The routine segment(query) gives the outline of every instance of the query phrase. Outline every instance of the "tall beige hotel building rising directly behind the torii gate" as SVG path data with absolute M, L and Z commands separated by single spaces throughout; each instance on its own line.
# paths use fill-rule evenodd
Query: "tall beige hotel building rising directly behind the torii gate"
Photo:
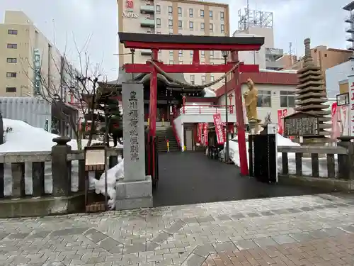
M 229 36 L 229 6 L 195 0 L 118 1 L 118 28 L 120 32 L 130 33 Z M 120 66 L 132 62 L 130 50 L 122 44 L 119 44 L 119 54 Z M 150 58 L 151 50 L 135 51 L 135 62 Z M 190 64 L 192 59 L 193 51 L 159 51 L 159 60 L 166 64 Z M 222 64 L 224 59 L 220 51 L 200 51 L 200 61 Z M 204 84 L 221 75 L 186 73 L 185 80 Z

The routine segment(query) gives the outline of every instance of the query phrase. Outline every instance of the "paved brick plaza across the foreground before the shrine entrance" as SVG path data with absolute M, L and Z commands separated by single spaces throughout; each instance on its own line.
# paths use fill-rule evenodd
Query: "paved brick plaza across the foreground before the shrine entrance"
M 354 198 L 0 220 L 0 265 L 354 265 Z

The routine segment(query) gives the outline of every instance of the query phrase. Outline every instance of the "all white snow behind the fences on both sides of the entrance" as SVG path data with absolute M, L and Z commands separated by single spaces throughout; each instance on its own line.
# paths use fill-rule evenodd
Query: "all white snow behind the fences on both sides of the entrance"
M 34 128 L 23 121 L 4 119 L 4 129 L 12 128 L 12 131 L 6 133 L 6 143 L 0 145 L 0 154 L 14 153 L 14 152 L 33 152 L 33 151 L 50 151 L 52 146 L 55 145 L 52 139 L 57 135 L 49 133 L 42 128 Z M 246 135 L 246 138 L 248 136 Z M 298 146 L 299 144 L 293 143 L 291 140 L 277 135 L 278 145 L 281 146 Z M 95 143 L 95 141 L 93 141 Z M 72 150 L 77 150 L 76 140 L 71 140 L 69 145 L 72 146 Z M 83 146 L 87 144 L 87 140 L 83 140 Z M 248 148 L 248 143 L 246 144 Z M 120 145 L 122 148 L 122 145 Z M 235 165 L 239 166 L 239 147 L 237 143 L 237 137 L 229 142 L 230 158 Z M 248 158 L 247 158 L 248 160 Z M 289 172 L 295 173 L 295 154 L 288 154 L 289 160 Z M 47 194 L 52 193 L 52 165 L 51 162 L 45 162 L 45 192 Z M 336 164 L 336 170 L 338 165 Z M 278 172 L 282 171 L 282 157 L 281 153 L 278 153 Z M 302 171 L 305 175 L 312 174 L 311 158 L 302 159 Z M 72 162 L 72 192 L 77 192 L 79 187 L 79 170 L 78 162 Z M 102 174 L 100 179 L 97 180 L 93 176 L 93 172 L 89 174 L 90 189 L 95 189 L 97 194 L 105 194 L 104 180 L 105 175 Z M 118 158 L 118 165 L 108 170 L 108 197 L 110 200 L 108 204 L 111 209 L 114 209 L 115 203 L 115 184 L 116 181 L 122 179 L 124 174 L 123 160 Z M 326 158 L 319 159 L 319 174 L 321 177 L 327 176 Z M 32 164 L 25 164 L 25 193 L 32 194 Z M 11 165 L 4 166 L 4 194 L 11 195 L 12 192 L 12 178 L 11 178 Z

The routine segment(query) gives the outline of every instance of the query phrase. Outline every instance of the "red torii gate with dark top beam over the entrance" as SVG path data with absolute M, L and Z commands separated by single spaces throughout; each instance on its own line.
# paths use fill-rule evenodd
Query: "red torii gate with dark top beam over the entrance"
M 239 143 L 240 170 L 242 175 L 249 174 L 247 165 L 246 135 L 244 129 L 244 113 L 242 108 L 240 72 L 259 72 L 258 65 L 239 63 L 238 51 L 260 50 L 264 44 L 263 37 L 216 37 L 195 35 L 156 35 L 145 33 L 118 33 L 120 43 L 125 48 L 152 50 L 152 62 L 146 64 L 125 64 L 126 73 L 151 73 L 149 102 L 149 135 L 156 135 L 156 104 L 157 104 L 157 67 L 166 73 L 227 73 L 234 69 L 235 108 Z M 193 65 L 164 65 L 158 61 L 159 50 L 193 50 Z M 200 65 L 200 50 L 229 51 L 232 62 L 227 65 Z M 235 67 L 236 64 L 239 64 Z M 149 162 L 155 160 L 152 151 L 148 153 Z M 150 165 L 150 163 L 149 163 Z M 153 163 L 153 165 L 155 165 Z M 154 170 L 149 171 L 152 174 Z

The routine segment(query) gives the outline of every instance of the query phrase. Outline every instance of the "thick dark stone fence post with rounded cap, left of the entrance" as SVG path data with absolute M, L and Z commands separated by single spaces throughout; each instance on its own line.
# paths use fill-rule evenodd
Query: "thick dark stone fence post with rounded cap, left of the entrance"
M 67 155 L 72 147 L 67 145 L 68 137 L 53 138 L 57 145 L 52 147 L 52 196 L 69 196 L 72 188 L 71 163 L 67 161 Z

